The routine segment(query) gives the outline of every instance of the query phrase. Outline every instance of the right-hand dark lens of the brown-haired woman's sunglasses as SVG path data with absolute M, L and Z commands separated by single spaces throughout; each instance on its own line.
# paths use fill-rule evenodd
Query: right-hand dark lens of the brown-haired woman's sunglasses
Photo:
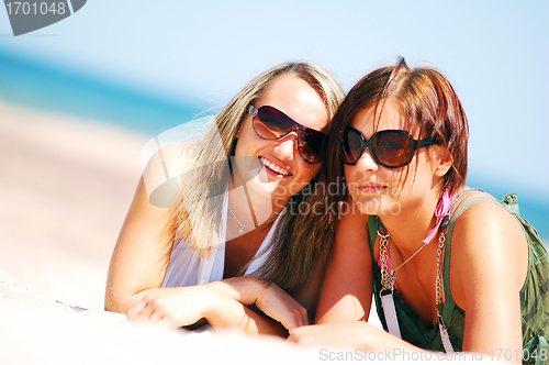
M 380 164 L 404 166 L 412 157 L 412 136 L 404 131 L 381 131 L 373 135 L 372 150 Z

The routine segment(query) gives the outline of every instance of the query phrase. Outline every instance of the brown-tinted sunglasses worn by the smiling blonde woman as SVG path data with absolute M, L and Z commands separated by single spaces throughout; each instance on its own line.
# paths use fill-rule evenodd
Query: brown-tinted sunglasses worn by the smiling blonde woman
M 326 135 L 322 132 L 303 126 L 277 108 L 262 106 L 256 109 L 249 106 L 251 124 L 256 134 L 264 140 L 280 140 L 295 132 L 298 134 L 296 148 L 301 157 L 309 164 L 322 161 L 321 150 Z

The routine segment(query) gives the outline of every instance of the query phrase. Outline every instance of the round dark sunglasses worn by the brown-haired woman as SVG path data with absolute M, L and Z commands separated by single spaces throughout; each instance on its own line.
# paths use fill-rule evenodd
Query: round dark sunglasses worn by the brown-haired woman
M 437 143 L 436 139 L 416 141 L 408 132 L 397 130 L 379 131 L 366 141 L 362 133 L 348 126 L 343 139 L 343 162 L 356 165 L 368 147 L 379 165 L 396 168 L 410 164 L 416 150 Z

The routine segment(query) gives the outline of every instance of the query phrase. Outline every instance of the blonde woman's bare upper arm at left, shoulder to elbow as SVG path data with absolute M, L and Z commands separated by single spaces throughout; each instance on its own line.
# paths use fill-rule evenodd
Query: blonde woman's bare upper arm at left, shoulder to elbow
M 168 170 L 176 176 L 192 168 L 192 153 L 187 145 L 172 145 L 153 155 L 145 167 L 111 257 L 105 310 L 125 313 L 150 289 L 161 286 L 172 246 L 166 234 L 170 209 L 150 203 L 149 196 L 167 181 Z M 169 191 L 165 195 L 171 196 Z

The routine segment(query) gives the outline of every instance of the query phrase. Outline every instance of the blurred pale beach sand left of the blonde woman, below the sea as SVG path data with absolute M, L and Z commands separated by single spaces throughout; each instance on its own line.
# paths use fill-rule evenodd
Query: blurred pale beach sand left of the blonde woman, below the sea
M 147 140 L 0 103 L 0 281 L 102 308 Z

